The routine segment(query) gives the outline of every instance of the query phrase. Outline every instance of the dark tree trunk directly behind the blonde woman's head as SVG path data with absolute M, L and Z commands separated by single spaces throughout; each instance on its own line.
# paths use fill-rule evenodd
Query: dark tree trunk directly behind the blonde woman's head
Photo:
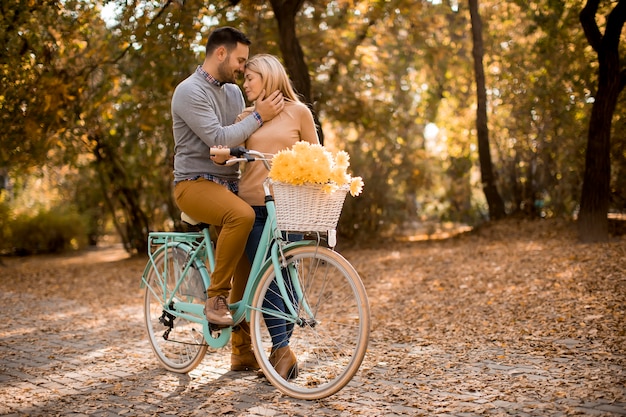
M 304 60 L 300 41 L 296 36 L 296 15 L 304 4 L 304 0 L 271 0 L 270 3 L 278 23 L 278 45 L 285 67 L 294 88 L 302 95 L 303 101 L 311 109 L 320 142 L 324 143 L 322 125 L 313 106 L 309 68 Z

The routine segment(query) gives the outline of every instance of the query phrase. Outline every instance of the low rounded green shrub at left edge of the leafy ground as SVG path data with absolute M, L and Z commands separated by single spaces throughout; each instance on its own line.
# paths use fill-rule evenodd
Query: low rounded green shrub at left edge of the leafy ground
M 9 226 L 16 254 L 60 253 L 87 242 L 85 220 L 75 210 L 53 207 L 34 216 L 22 214 Z

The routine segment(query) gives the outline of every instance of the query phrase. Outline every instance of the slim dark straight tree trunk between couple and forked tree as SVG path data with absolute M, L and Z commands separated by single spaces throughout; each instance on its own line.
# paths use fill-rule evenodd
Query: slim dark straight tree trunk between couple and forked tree
M 480 160 L 480 175 L 483 183 L 483 192 L 489 206 L 489 218 L 497 220 L 506 213 L 504 201 L 496 187 L 493 174 L 493 164 L 489 151 L 489 128 L 487 127 L 487 93 L 485 90 L 485 69 L 483 67 L 483 35 L 482 20 L 478 13 L 478 0 L 469 0 L 470 16 L 472 21 L 472 56 L 474 57 L 474 71 L 476 76 L 476 131 L 478 134 L 478 156 Z

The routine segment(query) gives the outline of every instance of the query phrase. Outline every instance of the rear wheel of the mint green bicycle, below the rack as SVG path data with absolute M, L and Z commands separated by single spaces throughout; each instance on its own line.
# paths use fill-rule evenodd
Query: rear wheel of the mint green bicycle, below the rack
M 144 320 L 157 359 L 172 372 L 186 373 L 200 364 L 207 350 L 202 325 L 178 317 L 166 305 L 185 267 L 187 252 L 167 246 L 155 256 L 147 274 Z M 203 303 L 206 291 L 200 273 L 190 268 L 174 301 Z

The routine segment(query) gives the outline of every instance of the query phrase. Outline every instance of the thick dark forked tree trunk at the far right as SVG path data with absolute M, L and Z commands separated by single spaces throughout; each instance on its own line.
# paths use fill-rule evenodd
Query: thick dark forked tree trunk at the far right
M 604 36 L 596 22 L 599 0 L 588 0 L 580 22 L 589 44 L 598 54 L 598 90 L 591 108 L 580 214 L 579 239 L 605 242 L 609 238 L 611 193 L 611 124 L 617 98 L 626 85 L 626 71 L 620 69 L 619 40 L 626 20 L 626 0 L 609 13 Z

